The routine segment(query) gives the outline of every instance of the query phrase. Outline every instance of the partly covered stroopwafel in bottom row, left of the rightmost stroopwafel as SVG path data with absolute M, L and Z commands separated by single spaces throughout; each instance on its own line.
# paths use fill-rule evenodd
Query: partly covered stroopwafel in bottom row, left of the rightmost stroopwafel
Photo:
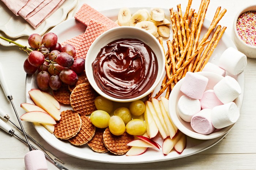
M 106 148 L 103 142 L 103 132 L 105 129 L 96 128 L 95 135 L 93 138 L 87 143 L 88 146 L 95 152 L 98 153 L 107 153 L 109 150 Z

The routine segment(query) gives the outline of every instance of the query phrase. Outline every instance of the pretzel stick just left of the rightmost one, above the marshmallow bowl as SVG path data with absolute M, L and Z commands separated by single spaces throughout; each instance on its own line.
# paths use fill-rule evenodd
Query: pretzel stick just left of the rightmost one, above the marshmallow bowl
M 206 58 L 206 55 L 207 55 L 208 51 L 211 49 L 211 46 L 214 43 L 215 39 L 217 38 L 220 30 L 221 30 L 221 26 L 218 25 L 216 30 L 214 31 L 214 34 L 212 35 L 210 43 L 208 44 L 208 46 L 204 50 L 204 53 L 203 53 L 202 57 L 200 59 L 196 58 L 197 61 L 195 61 L 194 65 L 193 65 L 193 69 L 192 69 L 193 72 L 198 72 L 199 71 L 204 59 Z

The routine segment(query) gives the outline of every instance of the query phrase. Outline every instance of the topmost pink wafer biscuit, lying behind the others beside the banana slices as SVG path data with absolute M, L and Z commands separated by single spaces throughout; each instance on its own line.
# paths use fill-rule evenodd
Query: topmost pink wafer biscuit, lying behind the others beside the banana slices
M 118 24 L 116 24 L 114 21 L 87 4 L 82 5 L 82 7 L 76 13 L 75 19 L 85 25 L 88 25 L 91 19 L 97 20 L 98 22 L 106 24 L 107 30 L 118 27 Z

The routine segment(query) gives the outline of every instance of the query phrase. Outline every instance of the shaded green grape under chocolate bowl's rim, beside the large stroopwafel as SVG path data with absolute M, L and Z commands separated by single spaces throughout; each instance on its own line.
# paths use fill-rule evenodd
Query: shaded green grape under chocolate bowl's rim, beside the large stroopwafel
M 98 110 L 102 110 L 108 113 L 111 113 L 113 110 L 113 102 L 108 100 L 102 96 L 98 96 L 95 98 L 94 104 Z

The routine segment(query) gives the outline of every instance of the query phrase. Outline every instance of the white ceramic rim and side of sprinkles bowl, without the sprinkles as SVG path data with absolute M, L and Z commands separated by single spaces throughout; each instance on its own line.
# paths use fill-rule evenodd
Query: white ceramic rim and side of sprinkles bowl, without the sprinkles
M 237 12 L 233 22 L 232 39 L 238 51 L 241 51 L 249 58 L 256 58 L 256 46 L 251 46 L 245 43 L 237 33 L 237 27 L 236 27 L 237 19 L 242 13 L 248 12 L 248 11 L 256 11 L 256 4 L 246 6 Z

